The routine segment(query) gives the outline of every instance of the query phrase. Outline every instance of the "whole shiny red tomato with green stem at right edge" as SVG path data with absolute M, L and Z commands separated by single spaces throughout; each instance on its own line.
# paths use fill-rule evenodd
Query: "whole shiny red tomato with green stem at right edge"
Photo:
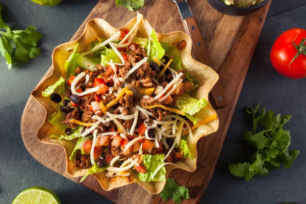
M 306 51 L 301 53 L 302 50 L 306 50 L 305 38 L 306 30 L 295 28 L 284 32 L 275 40 L 270 60 L 272 66 L 285 77 L 306 77 Z

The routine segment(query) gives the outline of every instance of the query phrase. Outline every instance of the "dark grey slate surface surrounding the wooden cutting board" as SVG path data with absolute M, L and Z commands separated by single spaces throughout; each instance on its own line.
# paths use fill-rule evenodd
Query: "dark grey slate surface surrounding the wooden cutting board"
M 42 54 L 36 60 L 14 64 L 8 70 L 5 59 L 0 57 L 0 203 L 12 202 L 19 192 L 32 186 L 52 189 L 62 203 L 111 203 L 38 163 L 25 149 L 20 136 L 22 110 L 52 64 L 54 47 L 72 37 L 96 2 L 64 0 L 59 6 L 43 7 L 30 0 L 0 1 L 4 6 L 3 18 L 12 28 L 25 29 L 33 24 L 43 33 L 39 44 Z M 305 19 L 304 0 L 272 1 L 211 184 L 201 203 L 306 203 L 305 79 L 282 77 L 269 61 L 276 37 L 294 27 L 305 29 Z M 246 183 L 228 173 L 227 165 L 243 162 L 251 155 L 252 150 L 241 139 L 243 131 L 251 125 L 244 110 L 259 102 L 277 113 L 293 115 L 285 127 L 293 137 L 290 148 L 300 149 L 301 153 L 290 170 L 282 167 L 269 176 L 256 176 L 255 182 Z

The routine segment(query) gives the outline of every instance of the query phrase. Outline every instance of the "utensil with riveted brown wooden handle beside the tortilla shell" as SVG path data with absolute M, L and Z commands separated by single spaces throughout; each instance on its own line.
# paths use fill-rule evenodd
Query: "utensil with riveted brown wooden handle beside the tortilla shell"
M 202 64 L 205 64 L 217 71 L 205 46 L 204 40 L 195 21 L 195 18 L 190 10 L 187 0 L 168 1 L 174 2 L 177 8 L 179 8 L 186 33 L 190 36 L 192 40 L 192 47 L 194 49 L 197 60 Z M 216 108 L 222 108 L 224 106 L 227 106 L 227 100 L 225 98 L 220 81 L 215 84 L 214 88 L 211 91 L 211 95 Z

